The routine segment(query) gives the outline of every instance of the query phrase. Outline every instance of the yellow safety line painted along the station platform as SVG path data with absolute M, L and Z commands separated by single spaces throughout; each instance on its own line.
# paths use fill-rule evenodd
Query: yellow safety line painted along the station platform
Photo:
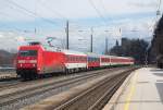
M 131 97 L 134 95 L 134 91 L 135 91 L 135 85 L 136 85 L 137 76 L 138 76 L 138 72 L 136 72 L 136 74 L 134 76 L 134 81 L 131 83 L 130 91 L 129 91 L 129 94 L 128 94 L 128 96 L 126 98 L 126 101 L 125 101 L 126 103 L 124 106 L 124 110 L 128 110 L 129 109 L 130 99 L 131 99 Z

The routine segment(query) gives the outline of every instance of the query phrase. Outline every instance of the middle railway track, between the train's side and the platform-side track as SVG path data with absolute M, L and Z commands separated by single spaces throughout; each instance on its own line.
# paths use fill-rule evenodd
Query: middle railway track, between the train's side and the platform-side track
M 51 89 L 58 89 L 61 87 L 66 87 L 68 85 L 79 84 L 79 82 L 85 83 L 88 80 L 104 75 L 105 73 L 108 74 L 108 71 L 109 70 L 90 72 L 91 74 L 89 73 L 89 74 L 85 74 L 85 75 L 76 75 L 74 77 L 64 78 L 64 80 L 57 81 L 57 82 L 54 81 L 51 83 L 46 83 L 46 84 L 43 83 L 43 85 L 33 86 L 33 87 L 29 87 L 26 89 L 20 89 L 20 90 L 17 89 L 16 91 L 3 94 L 3 95 L 0 93 L 0 109 L 4 106 L 17 102 L 18 100 L 25 100 L 25 99 L 34 97 L 36 95 L 45 94 L 46 91 L 51 90 Z M 111 72 L 117 71 L 117 69 L 114 69 L 114 70 L 112 69 L 110 71 Z M 33 83 L 36 83 L 36 82 L 33 82 Z M 22 84 L 22 86 L 24 84 Z

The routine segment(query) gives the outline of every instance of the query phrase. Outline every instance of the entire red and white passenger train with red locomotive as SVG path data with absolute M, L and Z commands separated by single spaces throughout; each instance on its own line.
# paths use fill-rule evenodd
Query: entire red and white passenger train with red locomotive
M 104 56 L 45 47 L 39 42 L 21 46 L 16 57 L 16 73 L 23 80 L 46 74 L 73 73 L 115 65 L 131 65 L 130 57 Z

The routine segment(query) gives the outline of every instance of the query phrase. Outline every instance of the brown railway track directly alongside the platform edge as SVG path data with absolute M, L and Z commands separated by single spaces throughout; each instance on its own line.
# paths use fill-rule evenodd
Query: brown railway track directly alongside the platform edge
M 103 80 L 54 110 L 101 110 L 131 71 Z

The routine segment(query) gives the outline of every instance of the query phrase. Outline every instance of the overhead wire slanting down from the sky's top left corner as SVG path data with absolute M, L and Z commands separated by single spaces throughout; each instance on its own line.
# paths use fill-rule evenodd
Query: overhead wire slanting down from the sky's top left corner
M 13 5 L 15 5 L 15 7 L 17 7 L 17 8 L 22 9 L 22 10 L 24 10 L 25 12 L 30 13 L 30 14 L 34 15 L 34 16 L 40 17 L 41 20 L 43 20 L 43 21 L 47 22 L 47 23 L 57 24 L 57 23 L 53 22 L 53 21 L 50 21 L 50 20 L 48 20 L 48 19 L 42 17 L 42 16 L 39 15 L 38 13 L 35 13 L 35 12 L 33 12 L 33 11 L 30 11 L 30 10 L 25 9 L 24 7 L 17 4 L 16 2 L 14 2 L 14 1 L 12 1 L 12 0 L 7 0 L 7 1 L 10 2 L 10 3 L 12 3 Z

